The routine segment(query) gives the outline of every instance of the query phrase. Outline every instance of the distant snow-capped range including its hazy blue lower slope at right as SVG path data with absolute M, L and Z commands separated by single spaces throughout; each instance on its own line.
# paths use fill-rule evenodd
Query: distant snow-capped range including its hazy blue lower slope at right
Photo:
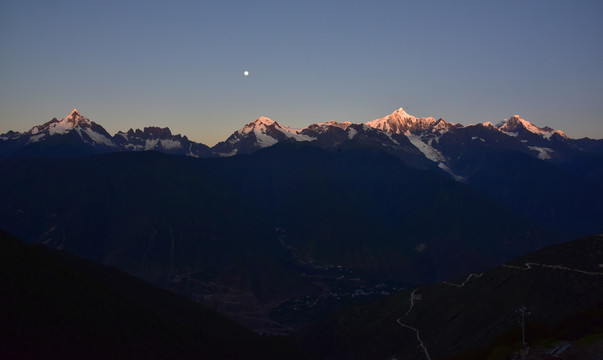
M 108 152 L 155 150 L 197 158 L 252 154 L 277 143 L 300 143 L 326 150 L 375 148 L 407 165 L 438 172 L 543 227 L 569 238 L 598 231 L 589 225 L 599 209 L 603 183 L 603 140 L 570 139 L 562 131 L 538 127 L 518 115 L 498 124 L 463 126 L 433 117 L 417 118 L 404 109 L 368 121 L 318 123 L 292 129 L 260 117 L 209 148 L 168 128 L 118 132 L 82 116 L 77 109 L 18 133 L 0 135 L 0 158 L 82 157 Z M 588 190 L 588 191 L 586 191 Z M 554 193 L 553 193 L 554 192 Z M 587 195 L 590 193 L 591 195 Z M 532 201 L 537 197 L 537 201 Z M 546 207 L 554 211 L 541 211 Z

